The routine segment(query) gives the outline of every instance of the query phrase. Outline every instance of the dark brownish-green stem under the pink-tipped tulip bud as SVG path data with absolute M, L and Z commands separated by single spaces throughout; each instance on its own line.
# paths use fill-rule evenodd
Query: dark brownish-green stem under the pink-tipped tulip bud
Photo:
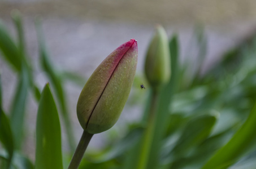
M 93 134 L 89 134 L 86 131 L 83 132 L 83 135 L 81 136 L 79 144 L 76 147 L 76 151 L 73 154 L 73 157 L 71 159 L 70 166 L 68 166 L 68 169 L 77 169 L 79 167 L 81 159 L 84 156 L 84 152 L 90 142 L 90 139 L 92 139 L 92 137 L 93 137 Z

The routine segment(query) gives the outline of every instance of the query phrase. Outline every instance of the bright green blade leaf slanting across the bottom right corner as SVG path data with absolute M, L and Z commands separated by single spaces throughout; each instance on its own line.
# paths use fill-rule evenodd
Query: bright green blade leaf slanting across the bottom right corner
M 227 168 L 235 163 L 256 141 L 256 104 L 248 119 L 229 142 L 216 152 L 202 168 Z

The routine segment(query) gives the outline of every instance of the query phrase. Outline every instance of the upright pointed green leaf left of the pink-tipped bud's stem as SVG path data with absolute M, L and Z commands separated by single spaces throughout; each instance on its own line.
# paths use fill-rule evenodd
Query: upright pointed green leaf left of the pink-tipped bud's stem
M 37 112 L 36 168 L 63 168 L 59 117 L 48 83 Z

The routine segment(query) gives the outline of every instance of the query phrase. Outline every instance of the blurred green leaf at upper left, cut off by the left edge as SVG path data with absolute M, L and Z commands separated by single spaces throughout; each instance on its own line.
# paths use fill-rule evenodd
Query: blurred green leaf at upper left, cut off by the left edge
M 21 70 L 21 57 L 19 50 L 15 46 L 14 41 L 8 34 L 5 26 L 0 20 L 0 50 L 3 53 L 3 57 L 10 63 L 16 70 Z

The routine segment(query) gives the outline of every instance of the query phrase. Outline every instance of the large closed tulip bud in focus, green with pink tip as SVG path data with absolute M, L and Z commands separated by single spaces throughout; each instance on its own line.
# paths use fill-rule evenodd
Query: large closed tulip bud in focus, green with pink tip
M 77 102 L 77 117 L 89 134 L 109 130 L 124 108 L 131 91 L 138 59 L 137 41 L 114 50 L 94 70 Z

